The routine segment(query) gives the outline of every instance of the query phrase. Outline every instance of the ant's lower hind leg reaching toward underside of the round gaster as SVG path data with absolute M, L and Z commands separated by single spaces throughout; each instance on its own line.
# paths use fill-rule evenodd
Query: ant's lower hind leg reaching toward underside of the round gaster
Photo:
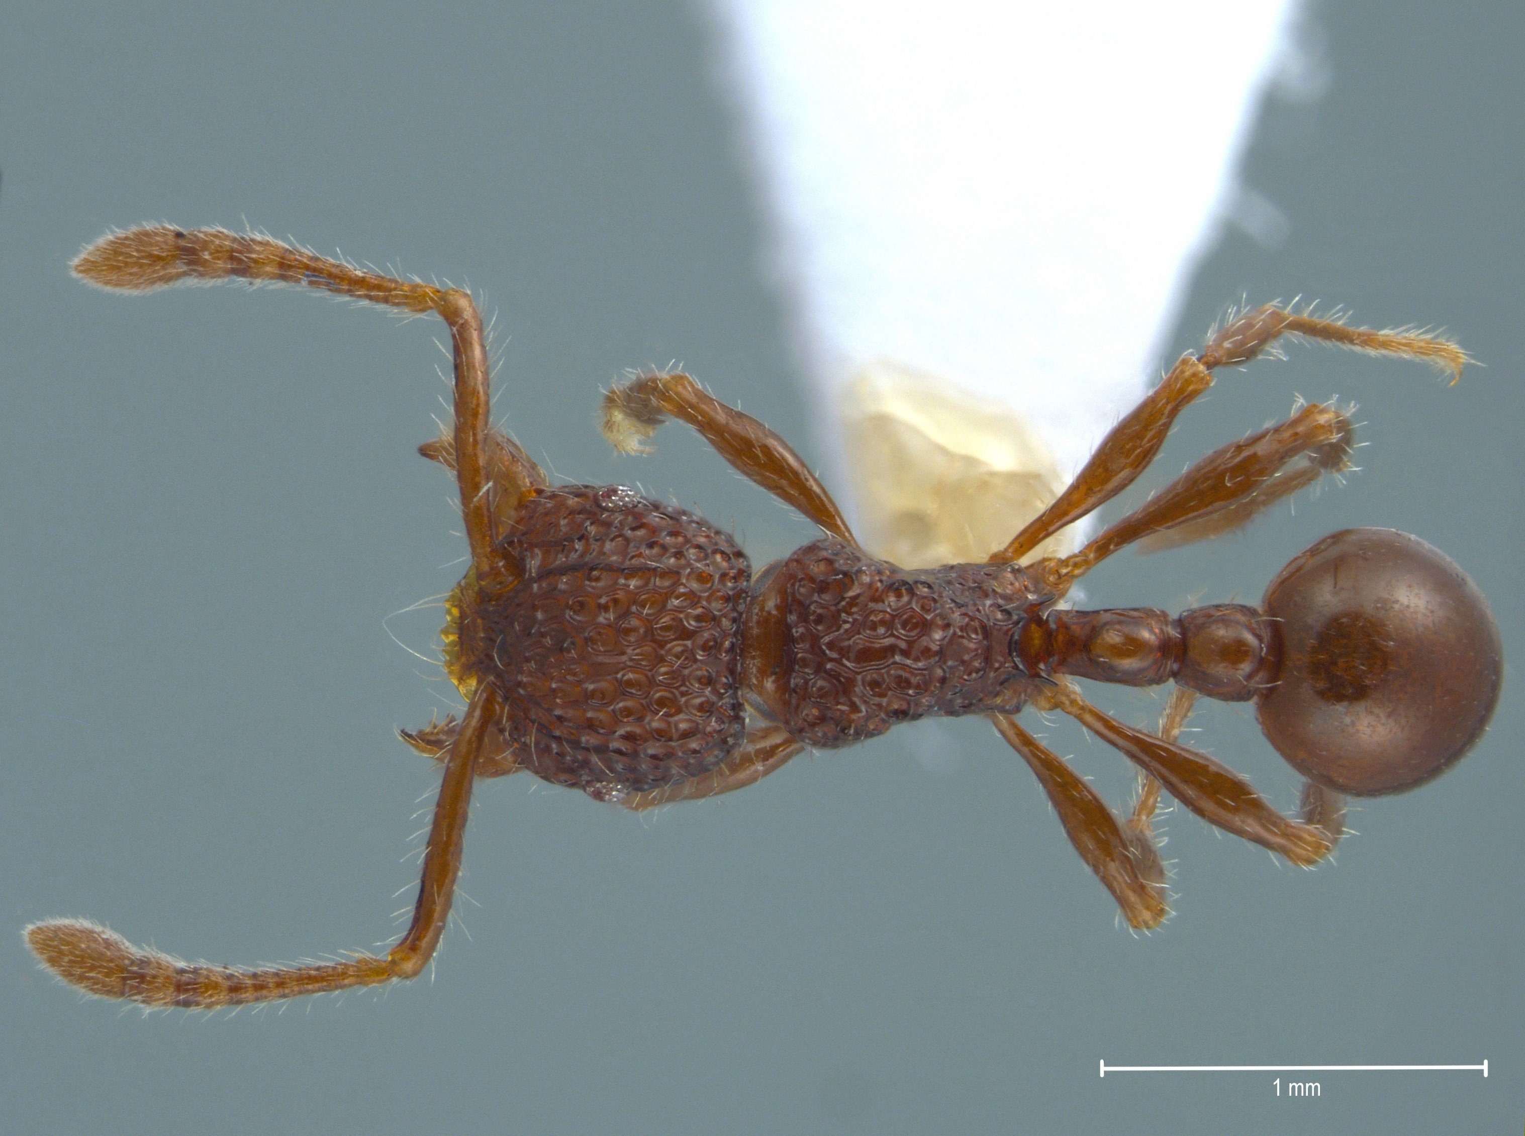
M 1308 868 L 1334 846 L 1318 823 L 1283 816 L 1228 765 L 1206 753 L 1124 726 L 1061 682 L 1034 700 L 1037 709 L 1060 709 L 1156 778 L 1176 801 L 1208 823 L 1254 840 L 1292 863 Z

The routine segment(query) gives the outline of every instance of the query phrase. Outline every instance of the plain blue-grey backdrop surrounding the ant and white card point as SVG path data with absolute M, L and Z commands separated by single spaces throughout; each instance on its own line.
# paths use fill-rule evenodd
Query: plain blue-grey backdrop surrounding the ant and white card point
M 1029 773 L 971 721 L 644 819 L 483 784 L 470 936 L 380 996 L 145 1019 L 34 967 L 17 932 L 47 915 L 223 962 L 384 938 L 433 784 L 392 729 L 453 704 L 389 634 L 427 654 L 438 608 L 387 619 L 461 570 L 450 482 L 412 454 L 445 390 L 439 329 L 294 291 L 107 296 L 64 267 L 107 226 L 247 220 L 470 282 L 500 316 L 499 413 L 555 474 L 639 479 L 758 561 L 810 537 L 683 432 L 637 462 L 593 430 L 601 384 L 679 358 L 820 457 L 692 12 L 430 8 L 5 14 L 0 1128 L 1516 1131 L 1508 685 L 1476 753 L 1354 814 L 1336 866 L 1276 866 L 1177 813 L 1179 913 L 1150 938 L 1115 926 Z M 1362 473 L 1244 538 L 1119 557 L 1089 592 L 1252 601 L 1325 532 L 1386 525 L 1461 561 L 1517 650 L 1525 18 L 1331 3 L 1319 24 L 1327 96 L 1267 104 L 1247 163 L 1290 238 L 1229 233 L 1167 357 L 1228 300 L 1301 293 L 1446 323 L 1487 367 L 1447 389 L 1307 348 L 1229 374 L 1162 470 L 1301 392 L 1360 404 Z M 1196 724 L 1293 801 L 1246 712 Z M 1118 755 L 1052 733 L 1125 796 Z M 949 741 L 952 772 L 917 761 Z M 1289 1101 L 1269 1073 L 1098 1080 L 1101 1058 L 1493 1073 L 1324 1073 L 1318 1101 Z

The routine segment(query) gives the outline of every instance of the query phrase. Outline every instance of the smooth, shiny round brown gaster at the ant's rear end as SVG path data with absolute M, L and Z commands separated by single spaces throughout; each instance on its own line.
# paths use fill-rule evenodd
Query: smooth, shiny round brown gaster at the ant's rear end
M 1401 793 L 1444 773 L 1488 724 L 1499 628 L 1472 579 L 1418 537 L 1325 537 L 1276 575 L 1264 608 L 1283 660 L 1260 727 L 1310 781 Z

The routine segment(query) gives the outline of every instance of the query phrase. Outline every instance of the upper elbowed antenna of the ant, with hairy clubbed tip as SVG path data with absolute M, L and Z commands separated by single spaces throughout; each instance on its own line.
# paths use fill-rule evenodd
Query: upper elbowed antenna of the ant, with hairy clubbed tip
M 468 293 L 361 271 L 268 236 L 162 224 L 111 233 L 85 249 L 75 259 L 73 268 L 92 284 L 122 291 L 151 291 L 191 281 L 267 281 L 300 284 L 419 314 L 436 313 L 450 328 L 454 355 L 453 441 L 454 451 L 461 454 L 456 480 L 461 485 L 471 563 L 483 576 L 494 569 L 493 483 L 486 454 L 486 343 L 482 337 L 482 317 Z

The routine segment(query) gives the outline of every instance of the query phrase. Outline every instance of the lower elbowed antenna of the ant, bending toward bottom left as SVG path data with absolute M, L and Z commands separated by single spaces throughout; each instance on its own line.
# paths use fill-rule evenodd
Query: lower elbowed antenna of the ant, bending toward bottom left
M 90 994 L 131 999 L 146 1006 L 215 1009 L 410 979 L 429 962 L 445 932 L 461 871 L 476 758 L 490 723 L 500 712 L 497 695 L 488 686 L 477 692 L 467 709 L 445 759 L 413 923 L 384 959 L 355 955 L 348 962 L 259 970 L 192 965 L 156 950 L 134 947 L 120 935 L 87 919 L 34 923 L 26 929 L 26 941 L 44 965 L 66 982 Z

